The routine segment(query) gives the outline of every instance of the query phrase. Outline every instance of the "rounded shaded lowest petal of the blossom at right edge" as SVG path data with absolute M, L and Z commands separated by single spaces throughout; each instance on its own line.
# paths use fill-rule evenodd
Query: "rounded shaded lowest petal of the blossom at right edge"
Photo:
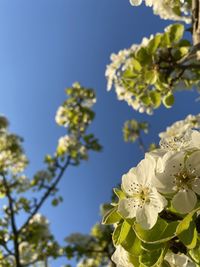
M 190 212 L 196 205 L 196 194 L 188 189 L 179 191 L 172 199 L 173 207 L 180 213 Z

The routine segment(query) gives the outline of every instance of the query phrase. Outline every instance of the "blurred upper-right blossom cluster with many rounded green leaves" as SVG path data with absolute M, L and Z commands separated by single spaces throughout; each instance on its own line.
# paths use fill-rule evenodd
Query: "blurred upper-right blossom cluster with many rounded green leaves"
M 107 89 L 114 86 L 118 99 L 141 113 L 152 114 L 161 103 L 170 108 L 174 91 L 199 82 L 197 71 L 180 63 L 191 49 L 190 42 L 182 39 L 183 33 L 182 24 L 170 25 L 164 33 L 112 54 L 105 72 Z

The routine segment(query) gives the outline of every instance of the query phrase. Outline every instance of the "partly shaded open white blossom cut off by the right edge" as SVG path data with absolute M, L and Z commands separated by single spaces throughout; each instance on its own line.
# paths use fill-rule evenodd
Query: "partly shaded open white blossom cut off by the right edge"
M 200 195 L 200 151 L 168 152 L 157 161 L 154 185 L 159 192 L 173 194 L 172 205 L 179 213 L 190 212 Z M 159 173 L 160 172 L 160 173 Z

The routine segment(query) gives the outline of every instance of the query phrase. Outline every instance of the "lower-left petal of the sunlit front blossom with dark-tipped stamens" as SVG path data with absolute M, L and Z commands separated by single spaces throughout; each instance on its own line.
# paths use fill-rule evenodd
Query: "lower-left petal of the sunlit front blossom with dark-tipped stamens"
M 134 218 L 138 208 L 138 200 L 133 198 L 121 199 L 119 201 L 118 211 L 125 218 Z

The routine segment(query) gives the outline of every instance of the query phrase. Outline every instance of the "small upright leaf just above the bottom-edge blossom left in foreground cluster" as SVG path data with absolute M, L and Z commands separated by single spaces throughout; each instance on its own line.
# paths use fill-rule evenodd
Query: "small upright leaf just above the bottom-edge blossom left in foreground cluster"
M 127 237 L 131 225 L 124 221 L 122 224 L 119 224 L 113 232 L 113 244 L 115 246 L 120 245 Z

